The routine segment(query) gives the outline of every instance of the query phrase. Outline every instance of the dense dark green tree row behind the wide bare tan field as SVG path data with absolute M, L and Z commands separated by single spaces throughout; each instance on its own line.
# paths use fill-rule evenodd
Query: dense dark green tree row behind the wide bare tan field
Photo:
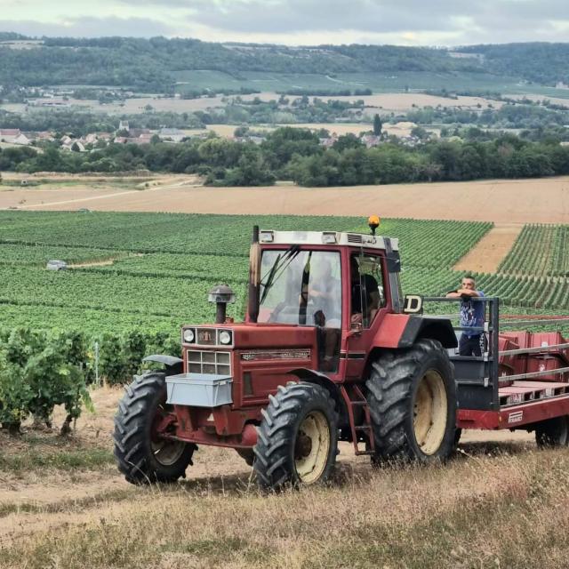
M 325 148 L 308 129 L 284 127 L 260 145 L 211 137 L 180 144 L 111 144 L 78 153 L 48 145 L 5 148 L 0 170 L 20 172 L 188 172 L 212 185 L 255 186 L 293 180 L 304 186 L 342 186 L 433 180 L 528 178 L 569 173 L 569 148 L 501 135 L 494 140 L 427 140 L 409 148 L 397 140 L 365 148 L 341 136 Z

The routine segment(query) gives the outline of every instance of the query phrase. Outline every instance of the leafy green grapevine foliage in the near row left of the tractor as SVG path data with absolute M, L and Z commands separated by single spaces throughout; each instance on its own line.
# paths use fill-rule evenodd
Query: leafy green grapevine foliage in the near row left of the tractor
M 75 330 L 0 330 L 2 425 L 17 432 L 29 416 L 51 424 L 54 407 L 63 405 L 68 429 L 82 409 L 93 411 L 88 385 L 95 377 L 95 341 L 100 345 L 99 373 L 109 385 L 132 381 L 133 374 L 148 367 L 142 359 L 149 354 L 180 354 L 178 335 L 171 333 L 131 330 L 87 338 Z

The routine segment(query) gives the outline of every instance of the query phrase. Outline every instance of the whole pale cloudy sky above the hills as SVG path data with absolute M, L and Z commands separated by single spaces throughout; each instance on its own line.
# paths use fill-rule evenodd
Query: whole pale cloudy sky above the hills
M 567 0 L 0 0 L 0 31 L 288 45 L 569 41 Z

